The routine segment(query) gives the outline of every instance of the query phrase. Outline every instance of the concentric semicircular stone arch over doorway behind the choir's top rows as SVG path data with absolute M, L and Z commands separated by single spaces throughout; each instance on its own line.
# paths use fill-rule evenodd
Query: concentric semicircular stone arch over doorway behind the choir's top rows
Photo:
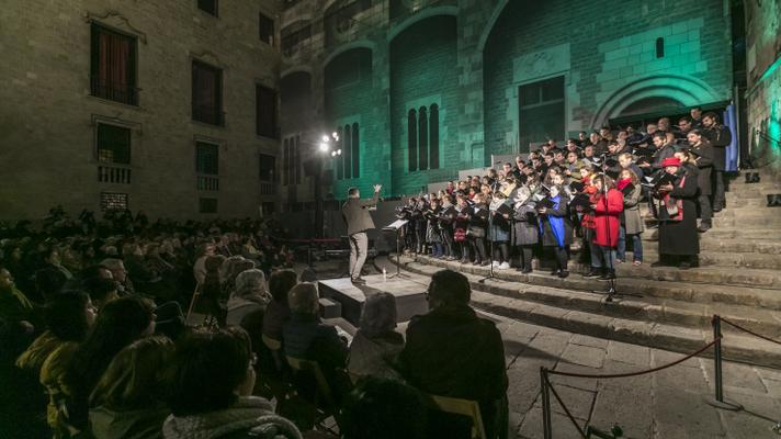
M 619 116 L 633 103 L 653 97 L 669 98 L 684 106 L 720 100 L 713 88 L 697 78 L 675 74 L 655 75 L 629 82 L 615 90 L 599 105 L 590 126 L 601 126 L 611 117 Z

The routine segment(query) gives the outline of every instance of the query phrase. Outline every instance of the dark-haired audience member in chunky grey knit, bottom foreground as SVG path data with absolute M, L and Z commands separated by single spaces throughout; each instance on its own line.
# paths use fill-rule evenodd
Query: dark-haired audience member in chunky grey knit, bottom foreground
M 162 426 L 162 436 L 299 439 L 295 425 L 275 415 L 269 401 L 251 396 L 253 363 L 244 329 L 188 335 L 171 363 L 167 398 L 171 416 Z

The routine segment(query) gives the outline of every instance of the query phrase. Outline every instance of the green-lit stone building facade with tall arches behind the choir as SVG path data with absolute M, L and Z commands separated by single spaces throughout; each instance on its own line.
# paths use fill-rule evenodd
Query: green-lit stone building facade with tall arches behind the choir
M 282 126 L 283 138 L 309 142 L 291 165 L 325 167 L 337 199 L 373 183 L 403 195 L 548 137 L 694 104 L 723 109 L 737 82 L 736 4 L 744 8 L 732 0 L 286 1 L 281 80 L 308 86 L 306 114 Z M 771 14 L 778 4 L 761 8 Z M 283 112 L 285 104 L 283 88 Z M 342 156 L 318 154 L 319 136 L 348 123 L 358 123 L 358 147 L 342 136 Z M 344 172 L 348 161 L 358 172 Z M 287 189 L 291 205 L 312 201 L 314 181 L 305 176 Z

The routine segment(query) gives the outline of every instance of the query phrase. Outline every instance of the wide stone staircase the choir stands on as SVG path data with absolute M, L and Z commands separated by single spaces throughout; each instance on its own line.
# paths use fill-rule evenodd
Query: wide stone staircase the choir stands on
M 727 207 L 715 215 L 714 228 L 700 234 L 699 268 L 652 268 L 658 259 L 655 230 L 643 234 L 643 266 L 618 266 L 615 282 L 619 292 L 639 297 L 607 302 L 607 283 L 582 278 L 585 268 L 571 261 L 567 279 L 545 269 L 495 270 L 485 279 L 486 267 L 427 256 L 407 256 L 401 263 L 426 277 L 442 268 L 461 271 L 472 283 L 476 307 L 573 333 L 691 352 L 712 340 L 711 318 L 718 314 L 781 340 L 781 207 L 767 207 L 765 196 L 781 193 L 781 183 L 760 176 L 760 183 L 745 184 L 743 177 L 731 183 Z M 781 367 L 781 346 L 722 326 L 726 359 Z

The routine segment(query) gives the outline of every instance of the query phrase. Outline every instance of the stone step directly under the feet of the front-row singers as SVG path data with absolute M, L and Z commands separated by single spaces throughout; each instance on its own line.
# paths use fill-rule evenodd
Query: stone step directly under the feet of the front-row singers
M 418 261 L 428 263 L 439 268 L 449 268 L 463 273 L 472 273 L 486 277 L 489 274 L 487 267 L 476 267 L 469 263 L 459 263 L 457 261 L 444 261 L 427 256 L 418 256 L 417 259 L 404 257 L 404 262 Z M 396 262 L 394 258 L 394 263 Z M 626 291 L 644 296 L 653 296 L 657 299 L 672 299 L 680 302 L 691 303 L 723 303 L 733 305 L 754 306 L 767 309 L 781 309 L 781 294 L 778 290 L 759 289 L 744 285 L 714 285 L 708 283 L 695 283 L 677 281 L 670 282 L 665 280 L 648 281 L 645 278 L 625 277 L 619 267 L 619 279 L 615 285 L 621 291 Z M 676 270 L 676 269 L 672 269 Z M 688 271 L 702 271 L 705 268 L 691 269 Z M 724 271 L 724 270 L 722 270 Z M 751 271 L 751 270 L 732 270 L 732 271 Z M 534 271 L 529 274 L 521 273 L 516 269 L 510 270 L 494 270 L 494 277 L 497 279 L 523 282 L 532 285 L 542 285 L 558 288 L 565 290 L 578 291 L 603 291 L 605 283 L 597 279 L 588 279 L 578 274 L 579 271 L 570 271 L 566 279 L 559 279 L 550 275 L 548 271 Z

